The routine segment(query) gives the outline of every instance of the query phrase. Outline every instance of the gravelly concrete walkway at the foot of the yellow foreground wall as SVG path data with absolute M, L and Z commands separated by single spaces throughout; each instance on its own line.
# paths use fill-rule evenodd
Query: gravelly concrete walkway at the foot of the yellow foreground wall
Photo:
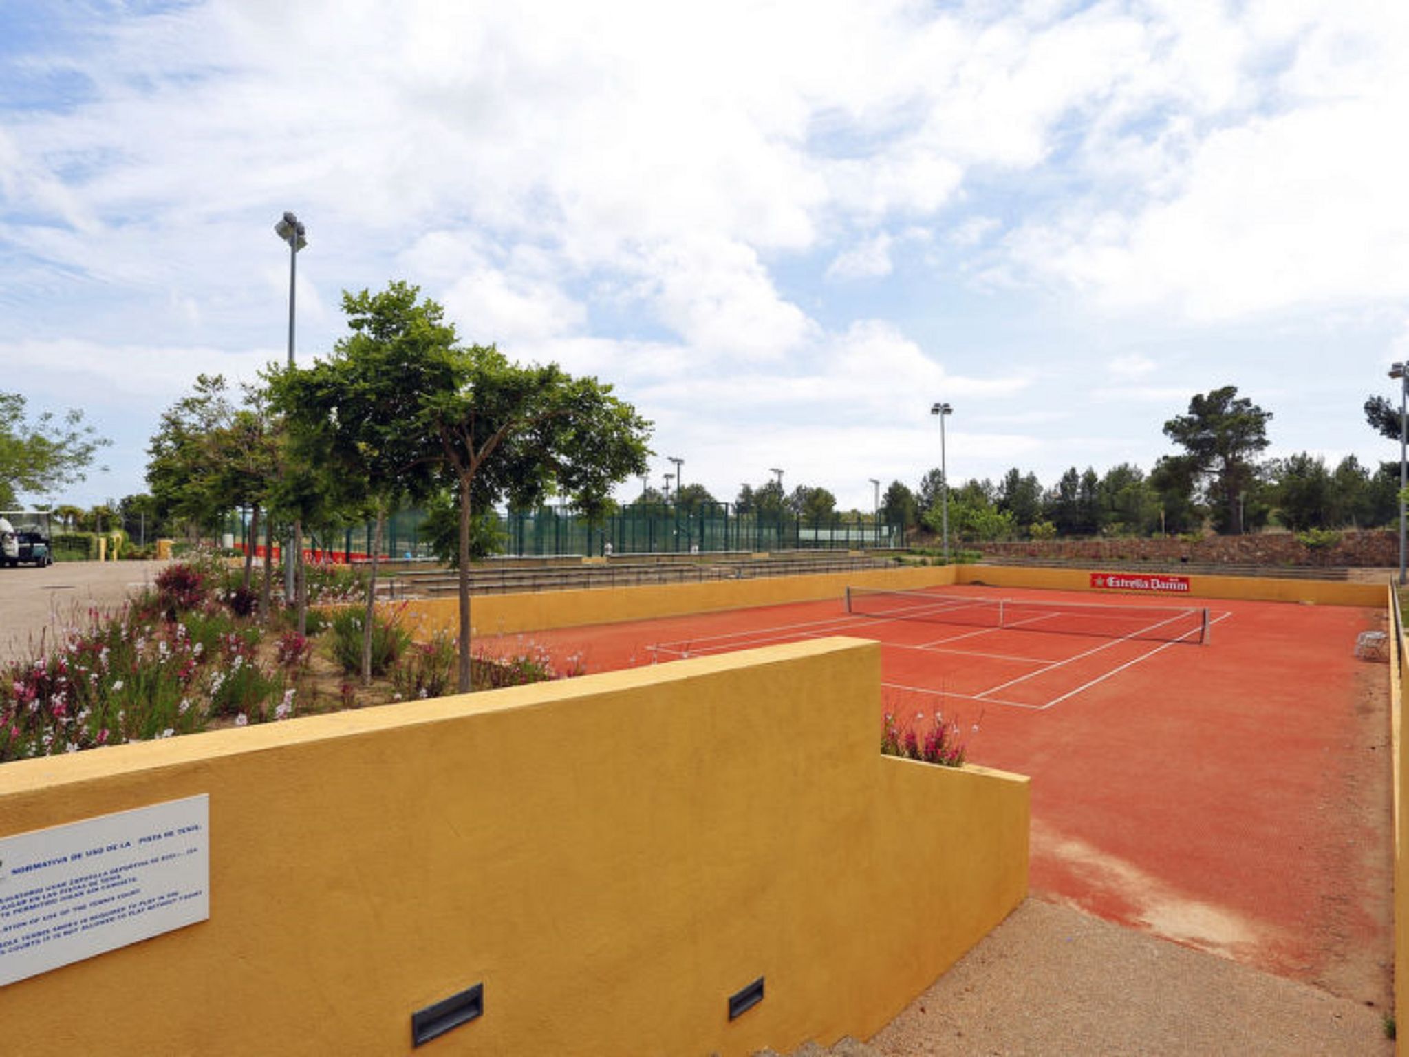
M 869 1046 L 885 1057 L 1389 1057 L 1386 1012 L 1027 899 Z

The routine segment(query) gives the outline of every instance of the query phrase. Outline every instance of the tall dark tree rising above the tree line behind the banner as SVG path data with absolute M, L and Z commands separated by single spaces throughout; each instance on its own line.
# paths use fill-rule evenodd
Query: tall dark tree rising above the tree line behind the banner
M 1191 459 L 1220 533 L 1244 528 L 1244 497 L 1257 483 L 1254 457 L 1268 445 L 1271 417 L 1271 412 L 1240 397 L 1237 386 L 1227 385 L 1196 395 L 1188 414 L 1164 424 L 1165 435 Z

